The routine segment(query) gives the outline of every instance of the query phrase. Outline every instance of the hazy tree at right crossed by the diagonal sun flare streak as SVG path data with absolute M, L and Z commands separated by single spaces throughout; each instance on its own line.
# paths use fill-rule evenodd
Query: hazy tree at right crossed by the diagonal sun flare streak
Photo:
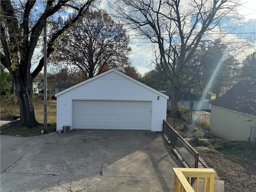
M 240 63 L 228 50 L 226 44 L 218 41 L 207 46 L 200 46 L 195 52 L 191 62 L 200 62 L 202 65 L 198 76 L 198 83 L 191 88 L 194 93 L 206 96 L 208 92 L 216 94 L 216 98 L 224 94 L 227 89 L 234 86 L 240 70 Z

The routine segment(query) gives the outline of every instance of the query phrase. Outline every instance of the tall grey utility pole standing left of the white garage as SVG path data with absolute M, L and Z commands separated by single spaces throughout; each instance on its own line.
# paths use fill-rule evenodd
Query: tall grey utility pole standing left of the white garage
M 47 128 L 47 50 L 46 50 L 46 19 L 44 20 L 44 133 L 48 133 Z

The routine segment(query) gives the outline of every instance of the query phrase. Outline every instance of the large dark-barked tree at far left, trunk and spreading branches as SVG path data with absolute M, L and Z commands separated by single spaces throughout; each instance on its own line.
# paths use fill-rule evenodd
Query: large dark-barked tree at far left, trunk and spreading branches
M 1 63 L 9 70 L 15 84 L 20 104 L 20 124 L 33 127 L 38 124 L 34 115 L 32 81 L 42 70 L 42 57 L 34 70 L 31 60 L 38 40 L 42 36 L 44 22 L 54 20 L 56 14 L 67 8 L 74 11 L 72 20 L 48 36 L 47 56 L 54 50 L 53 42 L 84 16 L 93 0 L 86 2 L 69 0 L 1 1 Z M 40 8 L 39 8 L 40 7 Z M 32 71 L 32 72 L 31 72 Z

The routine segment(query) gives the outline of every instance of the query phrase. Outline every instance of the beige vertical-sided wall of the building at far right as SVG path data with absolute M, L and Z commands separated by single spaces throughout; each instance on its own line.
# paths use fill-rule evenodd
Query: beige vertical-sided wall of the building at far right
M 254 119 L 252 122 L 246 120 Z M 255 126 L 256 117 L 212 106 L 211 133 L 226 139 L 245 141 L 250 137 L 251 125 Z

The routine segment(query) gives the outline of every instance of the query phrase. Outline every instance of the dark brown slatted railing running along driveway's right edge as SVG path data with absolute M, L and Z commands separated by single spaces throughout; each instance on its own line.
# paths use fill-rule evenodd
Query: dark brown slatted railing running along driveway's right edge
M 198 168 L 199 153 L 165 120 L 163 132 L 190 168 Z

